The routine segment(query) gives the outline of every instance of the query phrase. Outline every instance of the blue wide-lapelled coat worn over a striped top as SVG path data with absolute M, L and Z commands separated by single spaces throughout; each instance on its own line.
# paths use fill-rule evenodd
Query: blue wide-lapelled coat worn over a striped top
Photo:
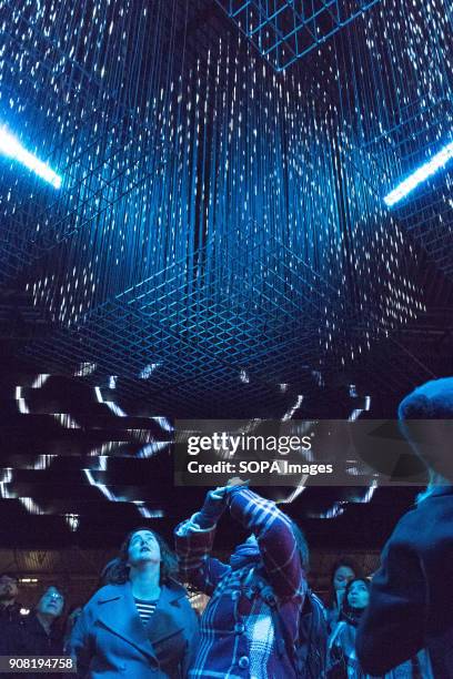
M 90 679 L 181 679 L 198 641 L 198 619 L 184 588 L 171 582 L 147 627 L 130 582 L 102 587 L 83 608 L 69 650 L 78 675 Z

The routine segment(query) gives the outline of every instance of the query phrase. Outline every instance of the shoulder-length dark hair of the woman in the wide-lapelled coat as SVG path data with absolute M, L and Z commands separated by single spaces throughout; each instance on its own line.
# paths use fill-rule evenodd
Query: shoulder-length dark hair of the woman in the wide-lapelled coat
M 148 526 L 139 526 L 125 536 L 124 541 L 120 547 L 118 557 L 109 561 L 102 570 L 101 579 L 103 585 L 123 585 L 129 580 L 129 545 L 131 543 L 132 536 L 135 535 L 135 533 L 138 533 L 139 530 L 148 530 L 152 533 L 159 544 L 161 551 L 161 567 L 159 578 L 160 585 L 168 582 L 170 578 L 174 579 L 177 577 L 177 557 L 171 551 L 165 540 L 159 535 L 159 533 L 150 530 Z

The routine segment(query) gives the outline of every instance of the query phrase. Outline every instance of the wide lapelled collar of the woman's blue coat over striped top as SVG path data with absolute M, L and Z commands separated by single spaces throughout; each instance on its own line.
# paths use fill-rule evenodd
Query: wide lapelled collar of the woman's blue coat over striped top
M 162 585 L 161 594 L 150 624 L 144 627 L 137 611 L 131 584 L 107 585 L 98 595 L 98 617 L 104 627 L 121 637 L 145 656 L 157 661 L 154 645 L 183 629 L 183 616 L 172 616 L 169 611 L 180 608 L 180 599 L 185 589 L 171 580 Z

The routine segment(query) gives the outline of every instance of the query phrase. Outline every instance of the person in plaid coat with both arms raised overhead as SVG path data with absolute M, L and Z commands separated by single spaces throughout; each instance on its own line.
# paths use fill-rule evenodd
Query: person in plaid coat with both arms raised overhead
M 295 671 L 286 649 L 294 647 L 299 634 L 306 543 L 273 501 L 239 483 L 208 493 L 202 509 L 175 529 L 181 578 L 211 597 L 189 677 L 291 679 Z M 225 508 L 251 531 L 229 564 L 211 557 L 217 521 Z M 253 586 L 256 570 L 275 595 L 279 625 Z

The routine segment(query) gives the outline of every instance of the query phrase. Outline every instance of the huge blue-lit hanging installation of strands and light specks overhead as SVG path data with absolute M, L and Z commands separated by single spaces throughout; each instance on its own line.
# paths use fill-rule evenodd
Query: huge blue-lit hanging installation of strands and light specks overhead
M 11 1 L 0 71 L 1 118 L 28 138 L 40 121 L 64 166 L 50 197 L 6 178 L 6 266 L 61 331 L 30 352 L 128 375 L 187 414 L 198 395 L 213 412 L 238 384 L 261 398 L 262 382 L 348 366 L 423 311 L 382 176 L 452 129 L 405 125 L 450 94 L 447 0 L 381 0 L 283 73 L 221 12 L 202 39 L 197 4 L 95 0 L 79 17 Z M 281 392 L 285 407 L 303 393 Z

